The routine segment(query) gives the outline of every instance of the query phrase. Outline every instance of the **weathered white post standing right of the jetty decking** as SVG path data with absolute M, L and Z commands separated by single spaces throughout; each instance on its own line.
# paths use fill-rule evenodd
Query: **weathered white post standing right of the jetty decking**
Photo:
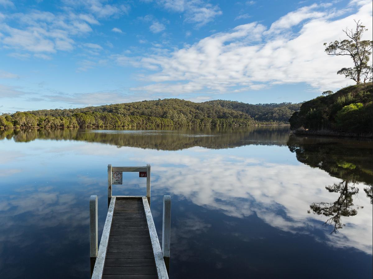
M 163 196 L 162 254 L 167 273 L 170 269 L 171 196 Z

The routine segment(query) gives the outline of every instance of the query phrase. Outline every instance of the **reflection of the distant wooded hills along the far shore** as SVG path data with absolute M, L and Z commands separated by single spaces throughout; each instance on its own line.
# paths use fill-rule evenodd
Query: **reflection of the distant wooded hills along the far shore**
M 247 144 L 286 145 L 288 126 L 248 127 L 167 127 L 157 130 L 81 130 L 32 129 L 0 130 L 0 140 L 16 142 L 34 140 L 74 140 L 100 142 L 117 147 L 139 147 L 157 150 L 182 150 L 194 146 L 233 148 Z

